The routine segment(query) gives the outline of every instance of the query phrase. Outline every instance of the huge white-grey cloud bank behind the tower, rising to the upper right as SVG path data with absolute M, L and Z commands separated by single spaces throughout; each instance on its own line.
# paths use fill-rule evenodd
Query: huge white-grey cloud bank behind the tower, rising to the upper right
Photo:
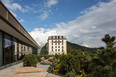
M 89 47 L 105 46 L 101 38 L 109 33 L 116 36 L 116 0 L 99 3 L 88 8 L 86 13 L 68 23 L 58 23 L 56 28 L 36 28 L 30 32 L 32 37 L 43 46 L 48 36 L 64 35 L 67 40 Z

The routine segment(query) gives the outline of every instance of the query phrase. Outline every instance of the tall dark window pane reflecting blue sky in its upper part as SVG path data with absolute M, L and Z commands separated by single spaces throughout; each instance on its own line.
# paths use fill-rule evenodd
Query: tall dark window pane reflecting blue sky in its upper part
M 4 65 L 11 63 L 11 37 L 4 35 Z

